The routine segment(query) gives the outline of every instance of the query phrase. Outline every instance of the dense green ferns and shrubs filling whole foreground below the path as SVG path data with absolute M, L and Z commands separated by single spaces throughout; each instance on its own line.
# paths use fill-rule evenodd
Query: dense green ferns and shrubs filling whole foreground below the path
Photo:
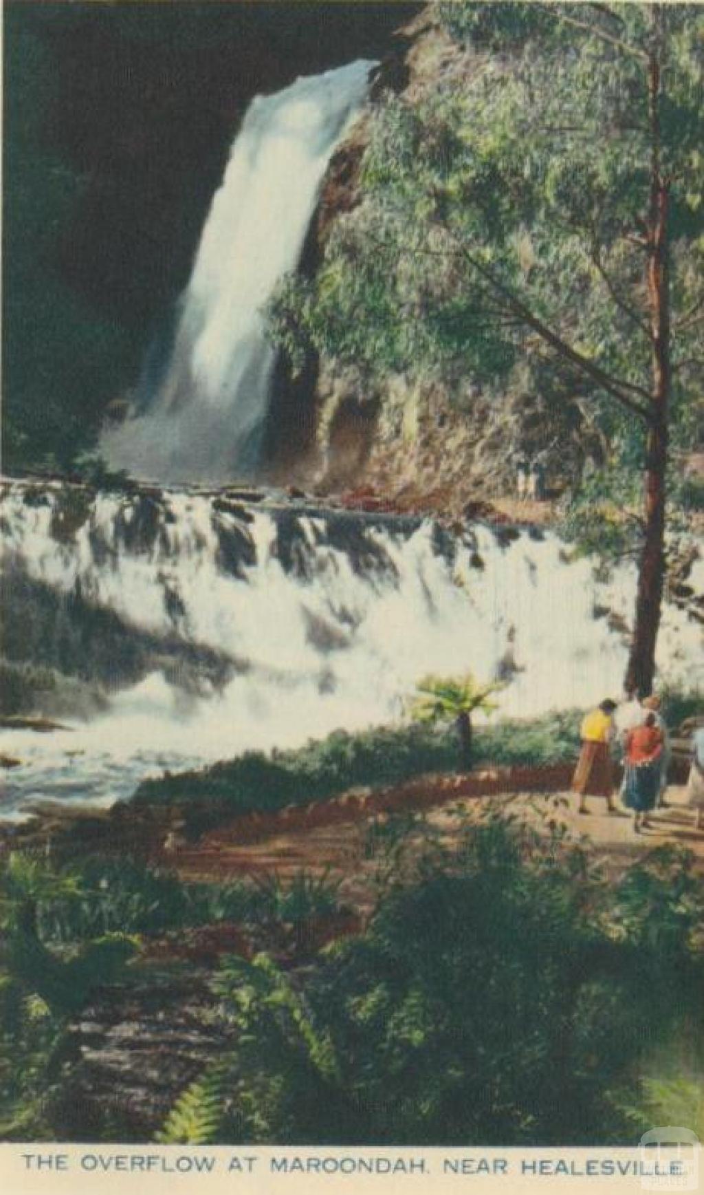
M 661 847 L 615 880 L 558 831 L 490 805 L 456 852 L 422 820 L 376 832 L 369 927 L 313 954 L 314 926 L 339 912 L 332 881 L 186 884 L 125 858 L 14 852 L 0 874 L 2 1135 L 143 1140 L 149 1120 L 158 1140 L 190 1144 L 702 1130 L 704 889 L 687 852 Z M 129 1001 L 160 957 L 163 972 L 160 939 L 173 951 L 214 920 L 249 948 L 211 969 L 200 1073 L 161 1123 L 154 1107 L 140 1122 L 81 1101 L 76 1025 L 100 991 Z M 194 972 L 168 966 L 172 986 Z

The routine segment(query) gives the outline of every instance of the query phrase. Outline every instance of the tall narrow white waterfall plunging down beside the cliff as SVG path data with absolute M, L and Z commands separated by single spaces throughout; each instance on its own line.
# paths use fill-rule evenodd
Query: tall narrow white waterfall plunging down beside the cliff
M 165 376 L 144 413 L 103 436 L 113 468 L 217 484 L 257 471 L 274 366 L 261 308 L 297 265 L 372 66 L 298 79 L 251 104 L 203 228 Z

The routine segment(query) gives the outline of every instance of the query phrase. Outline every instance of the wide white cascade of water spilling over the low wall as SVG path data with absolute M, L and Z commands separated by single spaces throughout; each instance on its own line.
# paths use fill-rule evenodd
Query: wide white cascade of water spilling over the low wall
M 82 525 L 57 538 L 66 491 L 26 498 L 7 488 L 7 575 L 27 594 L 58 595 L 56 619 L 109 611 L 130 644 L 153 646 L 143 675 L 107 686 L 89 722 L 0 735 L 2 753 L 21 760 L 5 779 L 5 817 L 36 799 L 110 804 L 165 768 L 395 723 L 424 674 L 490 679 L 507 654 L 518 670 L 499 717 L 620 691 L 628 644 L 613 627 L 632 617 L 635 571 L 598 581 L 589 560 L 567 563 L 552 533 L 475 525 L 450 535 L 427 520 L 246 509 L 174 491 L 95 495 Z M 704 588 L 702 559 L 696 569 Z M 47 643 L 57 633 L 43 629 Z M 202 670 L 194 686 L 185 664 L 196 646 L 228 667 Z M 704 682 L 700 646 L 700 627 L 666 607 L 662 675 Z M 88 652 L 75 663 L 89 673 Z

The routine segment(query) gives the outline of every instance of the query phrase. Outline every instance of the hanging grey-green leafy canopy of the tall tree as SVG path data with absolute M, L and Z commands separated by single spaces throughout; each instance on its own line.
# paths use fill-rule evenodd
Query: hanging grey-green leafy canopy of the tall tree
M 630 554 L 640 532 L 618 517 L 612 483 L 630 490 L 626 509 L 641 505 L 654 154 L 669 204 L 673 446 L 692 443 L 700 411 L 702 13 L 474 0 L 436 12 L 465 60 L 449 60 L 432 90 L 376 104 L 363 202 L 336 221 L 315 278 L 282 286 L 273 335 L 296 360 L 321 353 L 377 388 L 395 373 L 440 378 L 458 409 L 477 381 L 499 402 L 520 392 L 527 370 L 536 393 L 591 411 L 611 445 L 570 533 L 586 550 Z M 656 149 L 654 47 L 667 59 Z M 552 436 L 545 427 L 545 447 Z M 691 510 L 696 490 L 673 484 L 671 504 Z

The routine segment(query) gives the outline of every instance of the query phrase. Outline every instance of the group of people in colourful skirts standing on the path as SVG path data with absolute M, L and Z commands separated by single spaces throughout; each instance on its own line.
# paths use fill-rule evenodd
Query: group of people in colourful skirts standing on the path
M 581 752 L 573 791 L 579 793 L 579 813 L 588 813 L 585 797 L 605 797 L 610 813 L 613 803 L 613 748 L 620 750 L 623 782 L 620 798 L 632 811 L 634 829 L 638 834 L 648 827 L 648 814 L 665 805 L 667 772 L 672 756 L 669 736 L 661 703 L 655 695 L 640 698 L 628 691 L 617 704 L 606 699 L 582 721 Z M 687 782 L 688 804 L 696 810 L 696 827 L 704 829 L 704 727 L 694 731 L 692 765 Z

